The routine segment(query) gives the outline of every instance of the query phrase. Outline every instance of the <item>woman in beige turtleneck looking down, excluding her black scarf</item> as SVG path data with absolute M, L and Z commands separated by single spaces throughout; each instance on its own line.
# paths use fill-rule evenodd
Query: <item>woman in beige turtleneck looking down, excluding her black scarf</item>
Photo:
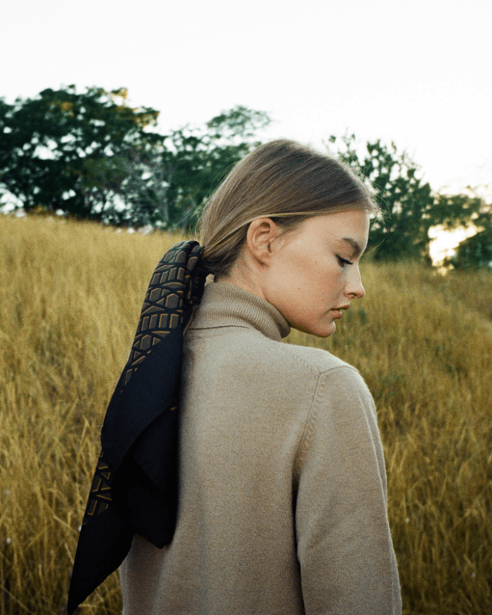
M 286 140 L 209 199 L 203 252 L 180 256 L 185 311 L 190 259 L 214 278 L 179 358 L 175 522 L 160 543 L 155 522 L 133 525 L 124 615 L 401 612 L 371 393 L 331 353 L 281 343 L 291 327 L 330 336 L 364 297 L 376 209 L 349 168 Z

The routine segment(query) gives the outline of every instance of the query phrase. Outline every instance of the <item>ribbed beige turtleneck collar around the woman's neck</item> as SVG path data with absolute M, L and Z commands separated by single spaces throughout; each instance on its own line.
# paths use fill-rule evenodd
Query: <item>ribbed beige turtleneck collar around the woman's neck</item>
M 187 329 L 249 327 L 280 342 L 291 332 L 288 322 L 272 304 L 225 282 L 207 284 Z

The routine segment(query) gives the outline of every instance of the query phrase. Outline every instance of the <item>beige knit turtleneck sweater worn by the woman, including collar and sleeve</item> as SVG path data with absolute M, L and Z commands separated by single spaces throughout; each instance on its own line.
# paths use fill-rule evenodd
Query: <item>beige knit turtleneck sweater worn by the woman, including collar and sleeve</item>
M 206 286 L 185 335 L 177 527 L 162 550 L 135 536 L 124 615 L 401 613 L 373 398 L 289 331 L 260 297 Z

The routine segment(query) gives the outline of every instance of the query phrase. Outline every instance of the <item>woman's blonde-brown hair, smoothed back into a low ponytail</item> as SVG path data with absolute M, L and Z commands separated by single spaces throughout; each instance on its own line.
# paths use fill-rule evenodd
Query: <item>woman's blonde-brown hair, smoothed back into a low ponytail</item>
M 199 219 L 204 261 L 214 276 L 227 274 L 255 218 L 269 217 L 286 232 L 350 209 L 379 208 L 345 163 L 295 141 L 271 141 L 242 158 L 208 198 Z

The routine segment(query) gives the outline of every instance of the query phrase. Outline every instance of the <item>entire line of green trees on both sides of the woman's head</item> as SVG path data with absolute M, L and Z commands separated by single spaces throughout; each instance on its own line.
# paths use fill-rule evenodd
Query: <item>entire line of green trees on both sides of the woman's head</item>
M 0 196 L 13 194 L 26 211 L 62 212 L 100 222 L 190 229 L 206 198 L 243 156 L 260 144 L 264 111 L 237 106 L 204 126 L 157 132 L 159 111 L 131 108 L 125 88 L 75 86 L 43 90 L 7 104 L 0 99 Z M 430 261 L 429 230 L 467 227 L 449 264 L 488 266 L 490 206 L 463 194 L 434 194 L 418 165 L 380 140 L 357 147 L 354 135 L 328 140 L 371 187 L 381 215 L 369 249 L 376 260 Z

